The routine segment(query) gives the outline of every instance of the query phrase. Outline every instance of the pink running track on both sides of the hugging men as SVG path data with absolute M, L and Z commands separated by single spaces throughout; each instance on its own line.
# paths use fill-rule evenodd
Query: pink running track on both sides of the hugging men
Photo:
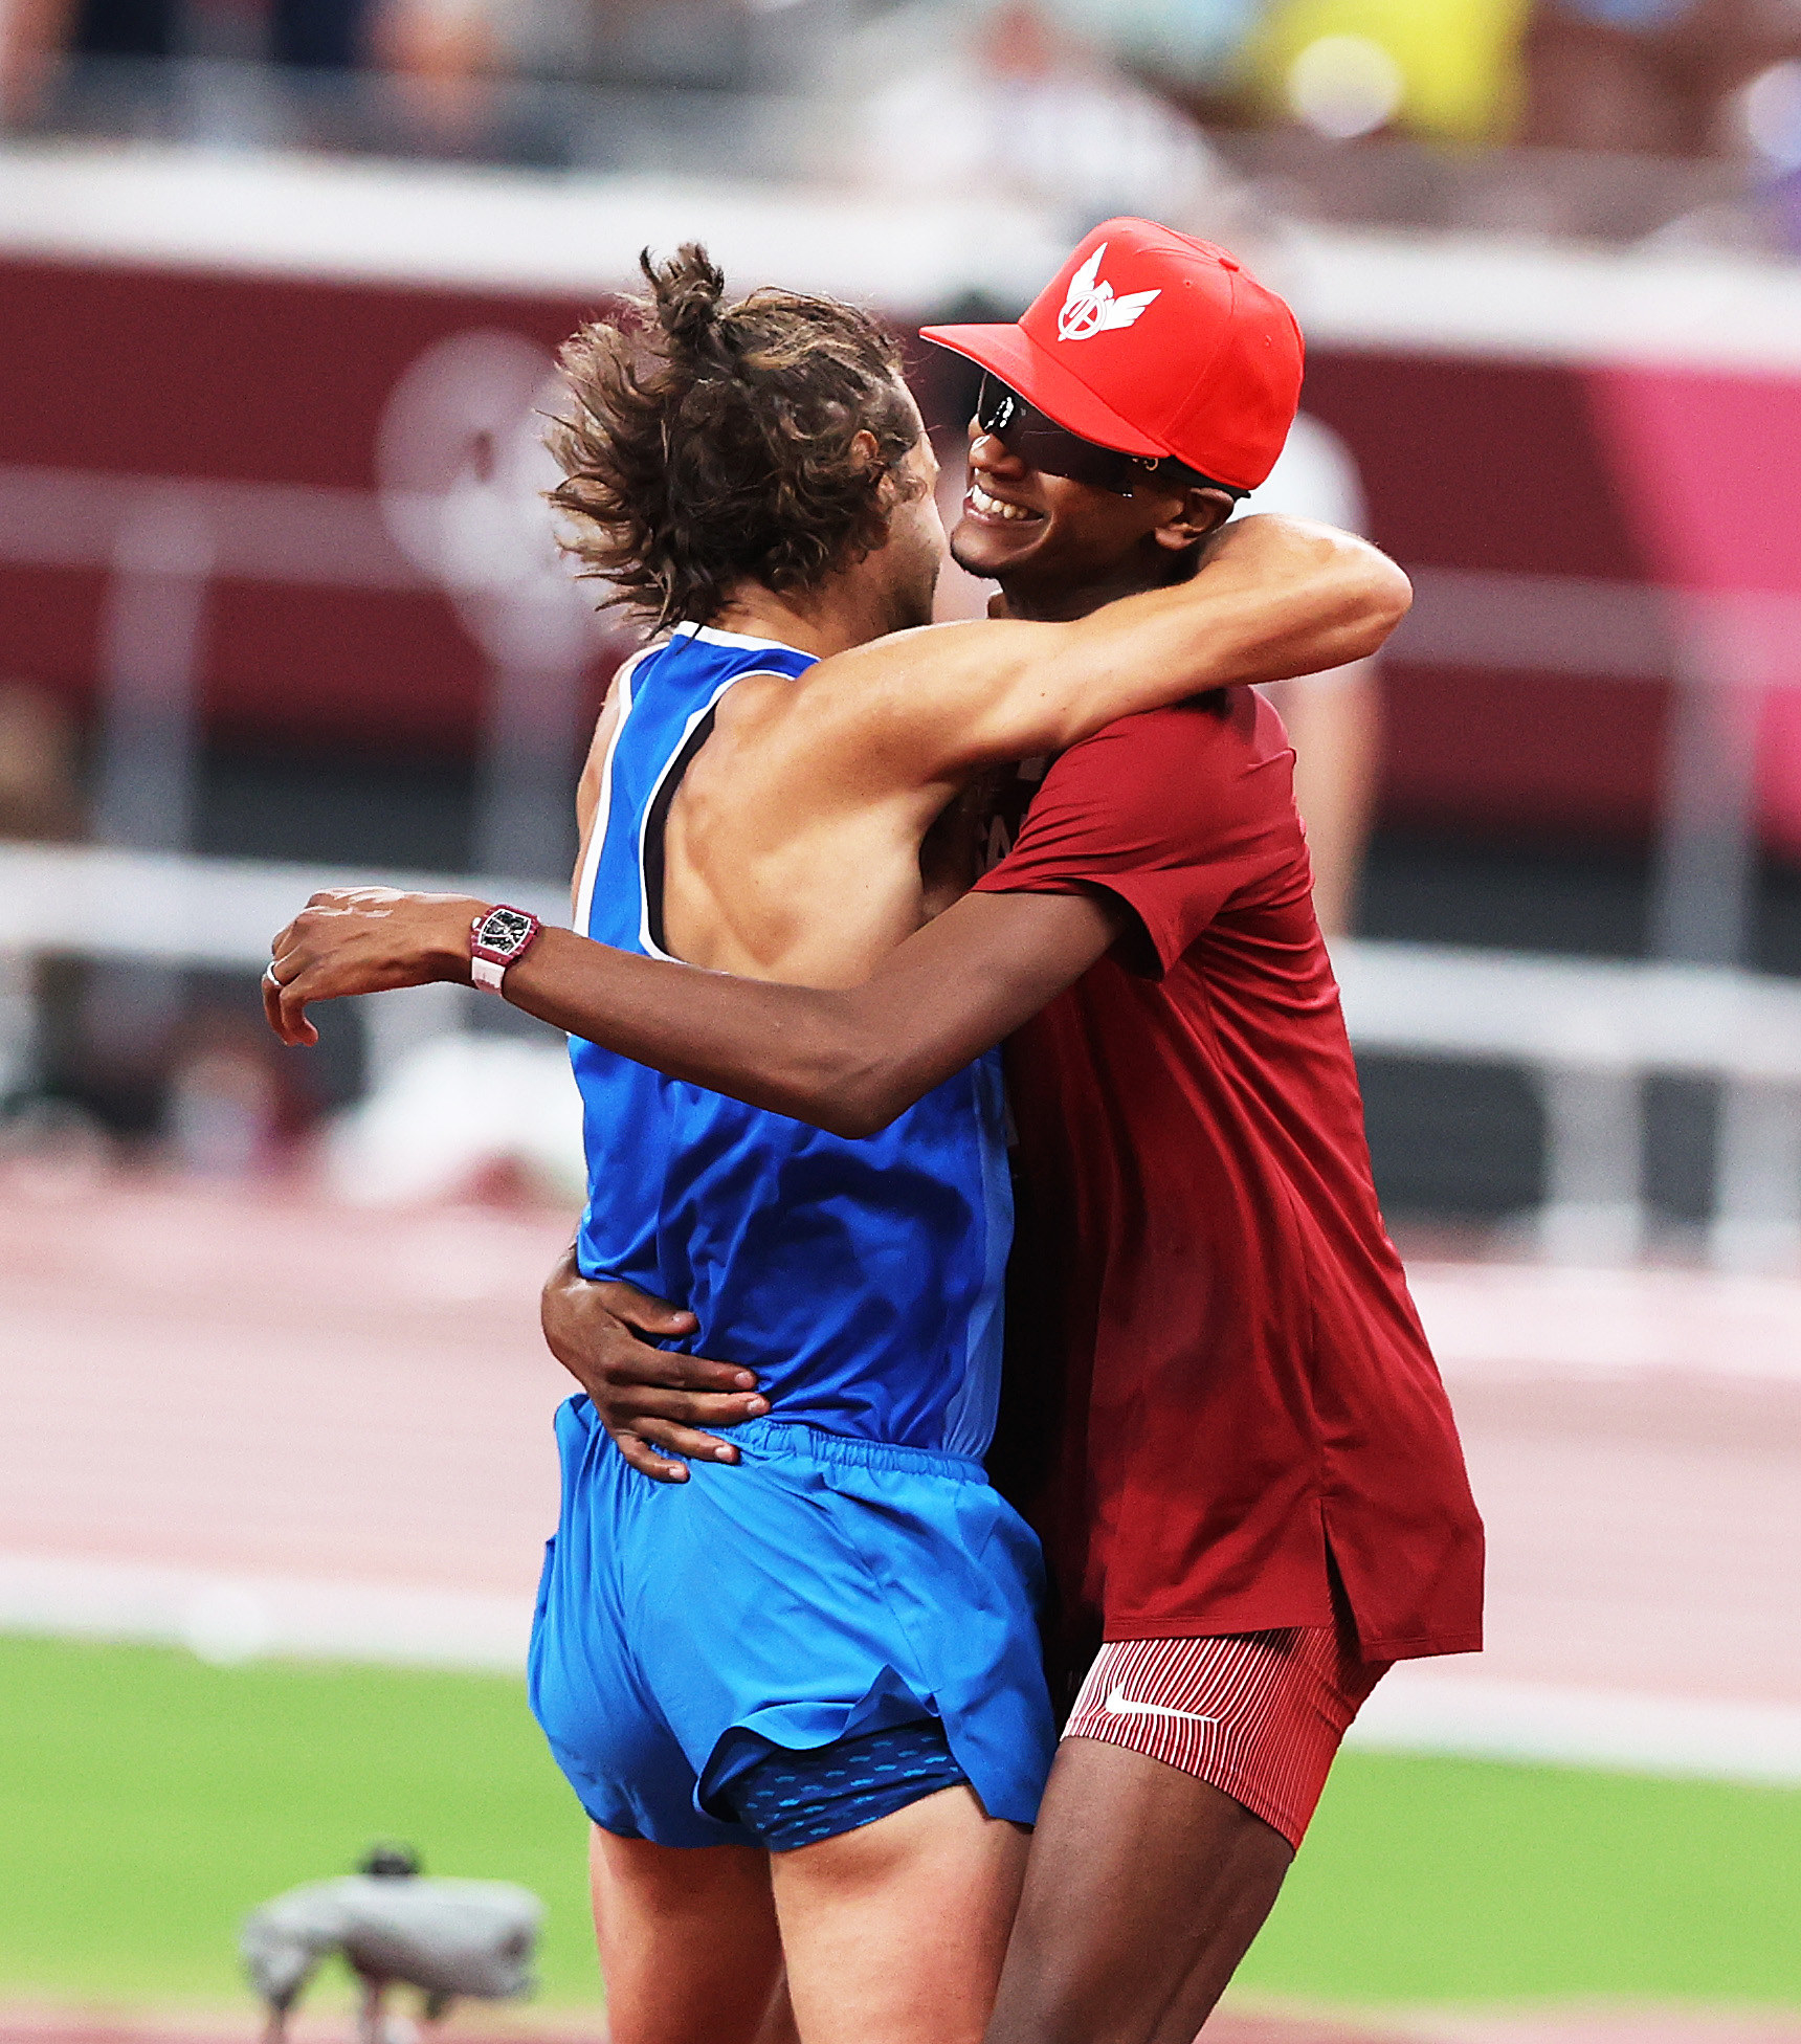
M 0 1623 L 515 1666 L 568 1220 L 0 1171 Z M 1425 1674 L 1801 1727 L 1801 1284 L 1413 1275 L 1492 1553 Z

